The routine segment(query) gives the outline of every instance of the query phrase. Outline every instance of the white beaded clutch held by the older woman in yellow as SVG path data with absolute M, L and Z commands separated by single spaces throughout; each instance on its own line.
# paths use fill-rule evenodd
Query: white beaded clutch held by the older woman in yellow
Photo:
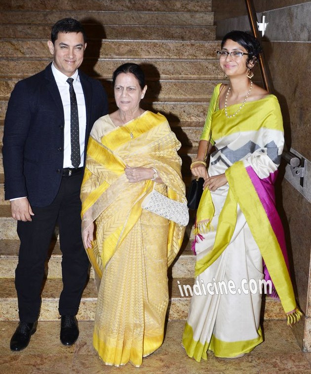
M 153 190 L 144 198 L 142 208 L 164 217 L 178 225 L 187 226 L 189 211 L 186 203 L 175 201 Z

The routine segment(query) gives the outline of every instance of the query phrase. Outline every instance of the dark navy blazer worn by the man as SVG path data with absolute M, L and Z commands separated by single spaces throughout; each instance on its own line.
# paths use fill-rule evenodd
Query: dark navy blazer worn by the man
M 108 101 L 100 82 L 80 70 L 79 77 L 86 107 L 86 147 L 94 122 L 108 113 Z M 16 84 L 4 121 L 5 199 L 27 196 L 38 207 L 52 203 L 62 178 L 64 123 L 51 64 Z

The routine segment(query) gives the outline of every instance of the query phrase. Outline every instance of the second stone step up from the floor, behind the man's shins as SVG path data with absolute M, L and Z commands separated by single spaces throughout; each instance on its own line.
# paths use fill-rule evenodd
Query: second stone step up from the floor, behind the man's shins
M 18 262 L 19 240 L 0 240 L 0 278 L 14 278 Z M 47 279 L 62 278 L 62 253 L 59 241 L 53 240 L 50 246 L 48 260 L 45 264 L 45 275 Z M 191 278 L 194 275 L 195 256 L 191 251 L 191 241 L 185 248 L 181 249 L 174 264 L 169 269 L 170 278 Z M 90 278 L 94 279 L 91 268 Z

